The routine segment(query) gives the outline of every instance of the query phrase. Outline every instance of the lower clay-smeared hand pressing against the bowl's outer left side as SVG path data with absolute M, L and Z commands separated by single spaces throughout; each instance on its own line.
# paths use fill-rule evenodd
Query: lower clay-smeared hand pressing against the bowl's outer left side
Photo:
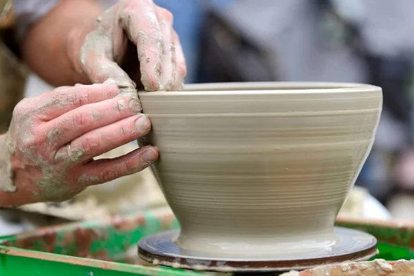
M 151 146 L 115 159 L 93 159 L 148 134 L 150 121 L 139 111 L 137 99 L 111 84 L 57 88 L 23 99 L 14 108 L 0 150 L 10 152 L 15 193 L 26 193 L 26 199 L 7 205 L 62 201 L 152 164 L 158 152 Z M 12 185 L 8 190 L 0 186 L 0 205 L 15 194 L 1 197 L 14 190 Z

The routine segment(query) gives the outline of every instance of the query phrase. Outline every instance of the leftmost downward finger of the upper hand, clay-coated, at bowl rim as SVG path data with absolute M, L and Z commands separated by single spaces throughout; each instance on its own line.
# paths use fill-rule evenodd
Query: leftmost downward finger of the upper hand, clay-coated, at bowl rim
M 147 91 L 162 90 L 164 39 L 155 5 L 151 0 L 127 3 L 119 19 L 129 39 L 137 46 L 141 83 Z

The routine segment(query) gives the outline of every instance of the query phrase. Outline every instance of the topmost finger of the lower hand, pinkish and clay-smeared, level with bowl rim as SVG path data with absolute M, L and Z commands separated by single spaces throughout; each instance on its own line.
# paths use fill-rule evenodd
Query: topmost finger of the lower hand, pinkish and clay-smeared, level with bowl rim
M 32 110 L 37 110 L 37 116 L 50 121 L 81 106 L 111 99 L 119 95 L 119 92 L 119 88 L 112 84 L 61 87 L 27 102 Z

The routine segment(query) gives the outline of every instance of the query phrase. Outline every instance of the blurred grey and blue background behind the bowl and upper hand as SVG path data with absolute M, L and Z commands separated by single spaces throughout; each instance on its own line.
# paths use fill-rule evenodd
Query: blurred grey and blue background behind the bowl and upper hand
M 115 0 L 101 0 L 111 6 Z M 174 14 L 186 83 L 346 81 L 381 86 L 384 110 L 357 186 L 414 219 L 414 1 L 155 0 Z M 50 90 L 32 75 L 26 96 Z

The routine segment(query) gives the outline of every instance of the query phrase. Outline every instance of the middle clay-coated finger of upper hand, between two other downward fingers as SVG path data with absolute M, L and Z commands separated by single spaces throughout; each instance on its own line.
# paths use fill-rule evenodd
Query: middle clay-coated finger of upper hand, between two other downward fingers
M 170 91 L 175 82 L 175 41 L 173 37 L 172 14 L 164 8 L 156 7 L 157 18 L 164 39 L 164 51 L 161 58 L 162 78 L 164 90 Z

